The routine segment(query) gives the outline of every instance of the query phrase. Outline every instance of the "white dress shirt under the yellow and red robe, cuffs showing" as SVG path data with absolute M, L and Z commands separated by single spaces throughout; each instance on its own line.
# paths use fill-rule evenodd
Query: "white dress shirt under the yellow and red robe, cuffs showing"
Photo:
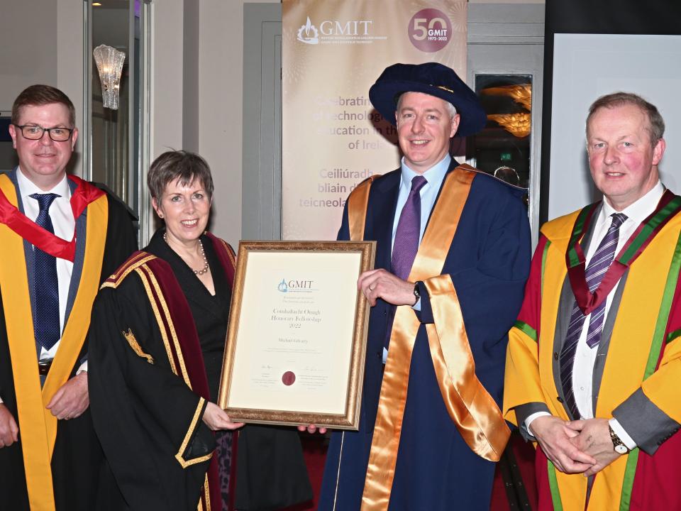
M 594 233 L 592 235 L 592 241 L 589 243 L 589 250 L 585 254 L 585 264 L 589 265 L 589 261 L 596 252 L 600 241 L 606 235 L 610 224 L 612 223 L 611 214 L 614 213 L 624 213 L 626 215 L 626 220 L 619 228 L 619 239 L 617 240 L 617 247 L 615 249 L 615 256 L 619 254 L 619 251 L 624 246 L 629 236 L 636 230 L 639 224 L 650 214 L 655 211 L 660 198 L 665 192 L 665 187 L 660 181 L 657 185 L 653 187 L 647 194 L 643 195 L 641 199 L 638 199 L 633 204 L 624 208 L 622 211 L 616 211 L 608 202 L 607 198 L 603 200 L 603 207 L 596 219 L 596 224 L 594 226 Z M 610 305 L 612 303 L 612 298 L 619 287 L 619 282 L 613 287 L 609 295 L 607 296 L 605 302 L 605 313 L 603 324 L 605 324 L 608 313 L 610 311 Z M 572 367 L 572 390 L 575 395 L 575 403 L 577 404 L 577 410 L 580 411 L 580 415 L 583 419 L 592 419 L 594 417 L 593 408 L 593 375 L 594 375 L 594 364 L 596 363 L 596 354 L 598 352 L 598 346 L 589 348 L 587 344 L 587 333 L 589 331 L 589 322 L 591 320 L 591 314 L 585 318 L 584 326 L 582 327 L 582 334 L 580 335 L 579 341 L 577 341 L 577 349 L 575 351 L 575 365 Z M 541 415 L 545 415 L 546 412 L 537 412 L 536 414 L 531 414 L 525 421 L 528 431 L 530 423 Z M 619 436 L 621 441 L 629 448 L 633 449 L 636 447 L 636 443 L 631 439 L 629 434 L 626 434 L 624 428 L 621 427 L 617 419 L 610 419 L 610 425 L 614 432 Z

